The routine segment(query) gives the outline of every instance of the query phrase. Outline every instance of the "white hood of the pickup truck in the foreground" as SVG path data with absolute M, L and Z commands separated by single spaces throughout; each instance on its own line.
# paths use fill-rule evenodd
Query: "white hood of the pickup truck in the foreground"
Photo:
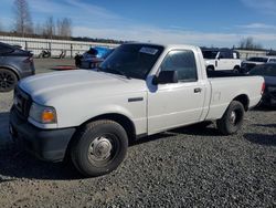
M 52 104 L 51 101 L 77 95 L 85 100 L 88 96 L 103 97 L 116 94 L 146 91 L 142 80 L 128 80 L 120 75 L 75 70 L 45 73 L 23 79 L 20 89 L 40 104 Z M 76 98 L 77 98 L 76 97 Z

